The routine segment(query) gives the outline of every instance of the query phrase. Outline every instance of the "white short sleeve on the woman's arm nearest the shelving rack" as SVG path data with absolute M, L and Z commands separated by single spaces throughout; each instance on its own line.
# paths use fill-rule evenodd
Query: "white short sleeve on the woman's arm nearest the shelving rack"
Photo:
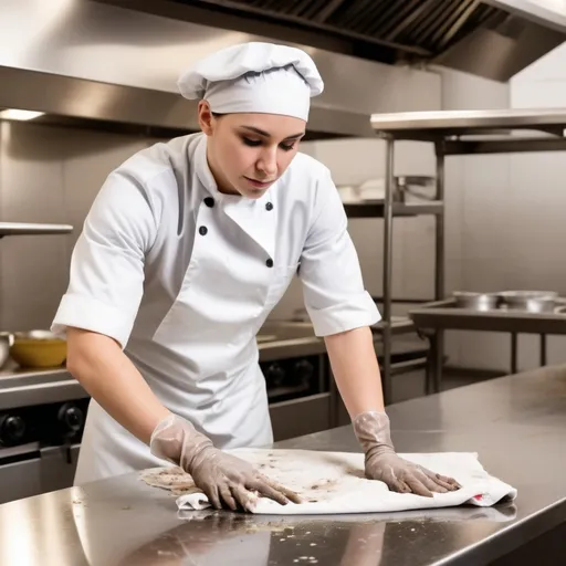
M 381 318 L 364 287 L 346 212 L 327 169 L 318 182 L 298 276 L 316 336 L 369 326 Z

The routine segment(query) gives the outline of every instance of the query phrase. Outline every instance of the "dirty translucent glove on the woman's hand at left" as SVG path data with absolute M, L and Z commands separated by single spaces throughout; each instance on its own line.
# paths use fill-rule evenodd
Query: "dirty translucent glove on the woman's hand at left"
M 222 503 L 232 511 L 238 504 L 252 511 L 256 494 L 282 505 L 301 503 L 300 496 L 258 472 L 252 464 L 222 452 L 209 438 L 176 415 L 163 419 L 149 443 L 151 454 L 168 460 L 190 473 L 195 485 L 202 490 L 216 509 Z

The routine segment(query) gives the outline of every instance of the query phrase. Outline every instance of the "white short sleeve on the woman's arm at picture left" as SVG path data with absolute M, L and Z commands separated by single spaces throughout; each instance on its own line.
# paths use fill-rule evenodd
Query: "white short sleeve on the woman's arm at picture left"
M 104 334 L 124 348 L 144 290 L 147 251 L 157 234 L 145 186 L 112 172 L 84 222 L 71 258 L 70 281 L 52 324 L 65 335 L 74 326 Z

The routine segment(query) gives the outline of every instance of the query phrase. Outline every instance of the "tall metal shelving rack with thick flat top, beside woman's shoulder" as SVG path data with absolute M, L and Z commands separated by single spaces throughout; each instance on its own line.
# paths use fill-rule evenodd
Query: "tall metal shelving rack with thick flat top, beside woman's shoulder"
M 433 214 L 436 217 L 434 301 L 444 298 L 444 158 L 454 155 L 509 154 L 520 151 L 566 150 L 566 109 L 440 111 L 374 114 L 371 127 L 386 142 L 386 191 L 380 205 L 346 205 L 352 218 L 384 218 L 384 339 L 382 381 L 386 403 L 391 400 L 391 340 L 399 332 L 415 332 L 409 322 L 399 331 L 391 321 L 392 302 L 392 219 L 398 216 Z M 531 130 L 527 136 L 521 132 Z M 533 136 L 532 132 L 537 133 Z M 428 142 L 436 150 L 436 201 L 424 205 L 400 205 L 394 201 L 395 142 Z M 397 327 L 396 327 L 397 326 Z M 437 326 L 429 336 L 430 352 L 427 388 L 438 391 L 443 360 L 443 328 Z M 430 380 L 432 379 L 432 385 Z

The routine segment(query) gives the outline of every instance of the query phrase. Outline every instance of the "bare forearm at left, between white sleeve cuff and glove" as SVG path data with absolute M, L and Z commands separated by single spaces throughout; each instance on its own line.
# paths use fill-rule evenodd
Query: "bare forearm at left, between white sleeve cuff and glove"
M 169 411 L 118 344 L 99 334 L 69 328 L 67 369 L 88 395 L 143 442 Z

